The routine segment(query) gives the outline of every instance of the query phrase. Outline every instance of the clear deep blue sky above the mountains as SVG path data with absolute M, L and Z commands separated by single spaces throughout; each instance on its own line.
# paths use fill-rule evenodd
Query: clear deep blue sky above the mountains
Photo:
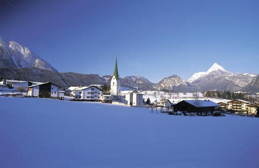
M 112 75 L 117 53 L 121 77 L 151 82 L 187 80 L 214 62 L 259 73 L 258 0 L 7 1 L 0 0 L 0 37 L 59 72 Z

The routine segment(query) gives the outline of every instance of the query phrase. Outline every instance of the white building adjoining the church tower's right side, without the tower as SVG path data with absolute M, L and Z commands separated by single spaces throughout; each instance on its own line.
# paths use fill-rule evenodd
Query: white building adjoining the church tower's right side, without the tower
M 118 101 L 131 106 L 143 105 L 143 94 L 136 90 L 124 90 L 118 93 Z

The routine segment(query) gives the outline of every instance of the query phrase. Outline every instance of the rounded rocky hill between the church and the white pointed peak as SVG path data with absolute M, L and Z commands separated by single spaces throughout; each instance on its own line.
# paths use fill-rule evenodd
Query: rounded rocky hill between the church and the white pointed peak
M 155 90 L 168 90 L 174 92 L 192 92 L 197 91 L 194 87 L 191 87 L 182 78 L 177 75 L 162 79 L 159 83 L 153 85 Z

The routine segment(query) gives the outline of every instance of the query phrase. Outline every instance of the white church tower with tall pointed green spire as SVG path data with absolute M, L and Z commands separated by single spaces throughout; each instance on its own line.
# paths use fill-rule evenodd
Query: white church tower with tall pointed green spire
M 116 56 L 113 77 L 111 79 L 111 95 L 117 96 L 119 92 L 121 92 L 121 81 L 118 73 L 117 56 Z

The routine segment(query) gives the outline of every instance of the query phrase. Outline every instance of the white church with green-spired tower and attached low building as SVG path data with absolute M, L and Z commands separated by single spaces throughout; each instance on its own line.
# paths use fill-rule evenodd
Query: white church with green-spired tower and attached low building
M 121 81 L 117 67 L 117 56 L 113 77 L 111 79 L 111 96 L 113 97 L 113 102 L 120 102 L 130 106 L 143 105 L 143 94 L 139 93 L 137 90 L 121 91 Z

